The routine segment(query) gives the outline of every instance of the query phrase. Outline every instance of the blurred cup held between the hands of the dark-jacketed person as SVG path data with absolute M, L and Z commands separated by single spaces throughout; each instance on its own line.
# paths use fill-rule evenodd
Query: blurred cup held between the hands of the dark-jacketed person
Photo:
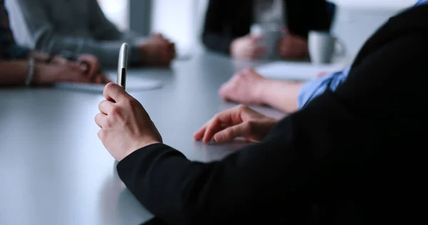
M 280 26 L 275 24 L 258 24 L 255 23 L 251 26 L 250 33 L 252 35 L 262 36 L 263 38 L 259 41 L 260 46 L 265 46 L 265 54 L 262 58 L 275 59 L 279 58 L 277 50 L 277 43 L 283 36 Z

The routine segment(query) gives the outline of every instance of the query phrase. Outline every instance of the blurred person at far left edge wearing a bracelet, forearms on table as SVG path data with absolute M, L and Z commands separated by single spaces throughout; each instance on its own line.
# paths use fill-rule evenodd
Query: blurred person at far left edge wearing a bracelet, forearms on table
M 91 55 L 78 55 L 75 61 L 70 61 L 17 45 L 4 0 L 0 0 L 0 85 L 46 85 L 61 81 L 107 83 L 109 80 Z

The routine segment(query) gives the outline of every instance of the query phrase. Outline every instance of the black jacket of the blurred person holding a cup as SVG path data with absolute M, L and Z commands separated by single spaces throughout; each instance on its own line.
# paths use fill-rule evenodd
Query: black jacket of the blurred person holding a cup
M 287 27 L 304 38 L 310 30 L 330 29 L 331 16 L 324 0 L 284 0 Z M 210 0 L 202 40 L 212 51 L 230 53 L 230 43 L 245 36 L 253 24 L 253 0 Z

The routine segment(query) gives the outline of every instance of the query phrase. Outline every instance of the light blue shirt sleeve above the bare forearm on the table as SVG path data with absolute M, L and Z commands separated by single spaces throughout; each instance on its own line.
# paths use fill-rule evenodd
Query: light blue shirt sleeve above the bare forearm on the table
M 335 91 L 336 88 L 346 80 L 348 73 L 350 73 L 350 68 L 305 83 L 302 88 L 300 88 L 299 95 L 297 95 L 297 107 L 299 110 L 312 99 L 324 93 L 327 88 Z

